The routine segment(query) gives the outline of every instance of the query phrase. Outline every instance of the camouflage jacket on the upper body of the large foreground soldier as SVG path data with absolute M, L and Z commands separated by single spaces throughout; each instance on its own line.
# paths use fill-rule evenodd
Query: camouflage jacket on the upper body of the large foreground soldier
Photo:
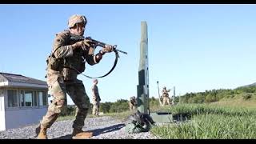
M 79 48 L 73 50 L 71 45 L 74 43 L 70 40 L 69 30 L 56 34 L 51 53 L 52 57 L 49 57 L 47 60 L 50 64 L 54 63 L 56 68 L 48 64 L 48 74 L 62 74 L 64 79 L 73 80 L 77 78 L 78 72 L 82 73 L 86 69 L 85 62 L 90 65 L 97 63 L 94 54 L 89 53 L 89 47 L 86 50 Z

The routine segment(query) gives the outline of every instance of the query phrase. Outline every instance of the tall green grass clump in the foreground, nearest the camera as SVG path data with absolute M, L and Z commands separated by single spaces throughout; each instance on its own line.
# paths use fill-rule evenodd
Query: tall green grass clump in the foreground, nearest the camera
M 200 114 L 182 124 L 154 127 L 151 132 L 168 139 L 250 139 L 256 138 L 256 117 Z

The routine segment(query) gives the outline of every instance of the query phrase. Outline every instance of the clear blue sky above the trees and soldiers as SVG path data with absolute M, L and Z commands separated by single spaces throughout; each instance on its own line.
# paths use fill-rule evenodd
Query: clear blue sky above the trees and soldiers
M 150 97 L 158 97 L 157 81 L 160 88 L 175 86 L 177 95 L 256 82 L 256 5 L 0 5 L 0 71 L 45 81 L 54 34 L 67 29 L 72 14 L 86 15 L 85 36 L 128 53 L 98 79 L 102 102 L 137 95 L 142 21 L 148 25 Z M 86 64 L 84 74 L 106 74 L 114 53 L 104 56 L 98 65 Z M 78 79 L 91 98 L 92 79 Z

